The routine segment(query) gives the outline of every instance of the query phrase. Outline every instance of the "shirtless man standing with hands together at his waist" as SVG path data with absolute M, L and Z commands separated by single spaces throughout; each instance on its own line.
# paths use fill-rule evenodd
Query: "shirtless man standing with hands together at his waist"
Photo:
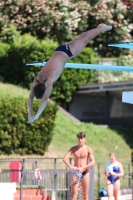
M 64 156 L 63 162 L 74 172 L 79 171 L 82 174 L 81 177 L 81 191 L 82 199 L 88 200 L 88 190 L 89 190 L 89 168 L 94 166 L 95 158 L 91 147 L 85 145 L 86 135 L 84 132 L 79 132 L 77 134 L 78 144 L 72 147 Z M 69 163 L 68 159 L 73 156 L 73 164 Z M 88 163 L 88 161 L 90 162 Z M 76 200 L 78 196 L 78 187 L 76 184 L 76 176 L 72 174 L 72 184 L 71 184 L 71 200 Z

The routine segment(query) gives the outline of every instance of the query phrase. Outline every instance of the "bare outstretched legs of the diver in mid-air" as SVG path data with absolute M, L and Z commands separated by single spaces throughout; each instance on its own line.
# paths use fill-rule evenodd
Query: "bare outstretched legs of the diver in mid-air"
M 82 33 L 79 38 L 68 42 L 71 52 L 74 56 L 77 56 L 90 40 L 95 38 L 101 32 L 109 31 L 111 29 L 111 26 L 100 24 L 97 28 Z

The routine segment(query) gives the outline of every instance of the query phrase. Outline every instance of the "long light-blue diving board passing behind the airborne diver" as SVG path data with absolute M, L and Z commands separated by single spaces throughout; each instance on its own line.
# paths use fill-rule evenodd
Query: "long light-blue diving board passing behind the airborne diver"
M 26 63 L 27 66 L 44 66 L 45 64 L 46 62 Z M 65 68 L 133 72 L 133 66 L 116 66 L 116 65 L 100 65 L 100 64 L 66 63 Z

